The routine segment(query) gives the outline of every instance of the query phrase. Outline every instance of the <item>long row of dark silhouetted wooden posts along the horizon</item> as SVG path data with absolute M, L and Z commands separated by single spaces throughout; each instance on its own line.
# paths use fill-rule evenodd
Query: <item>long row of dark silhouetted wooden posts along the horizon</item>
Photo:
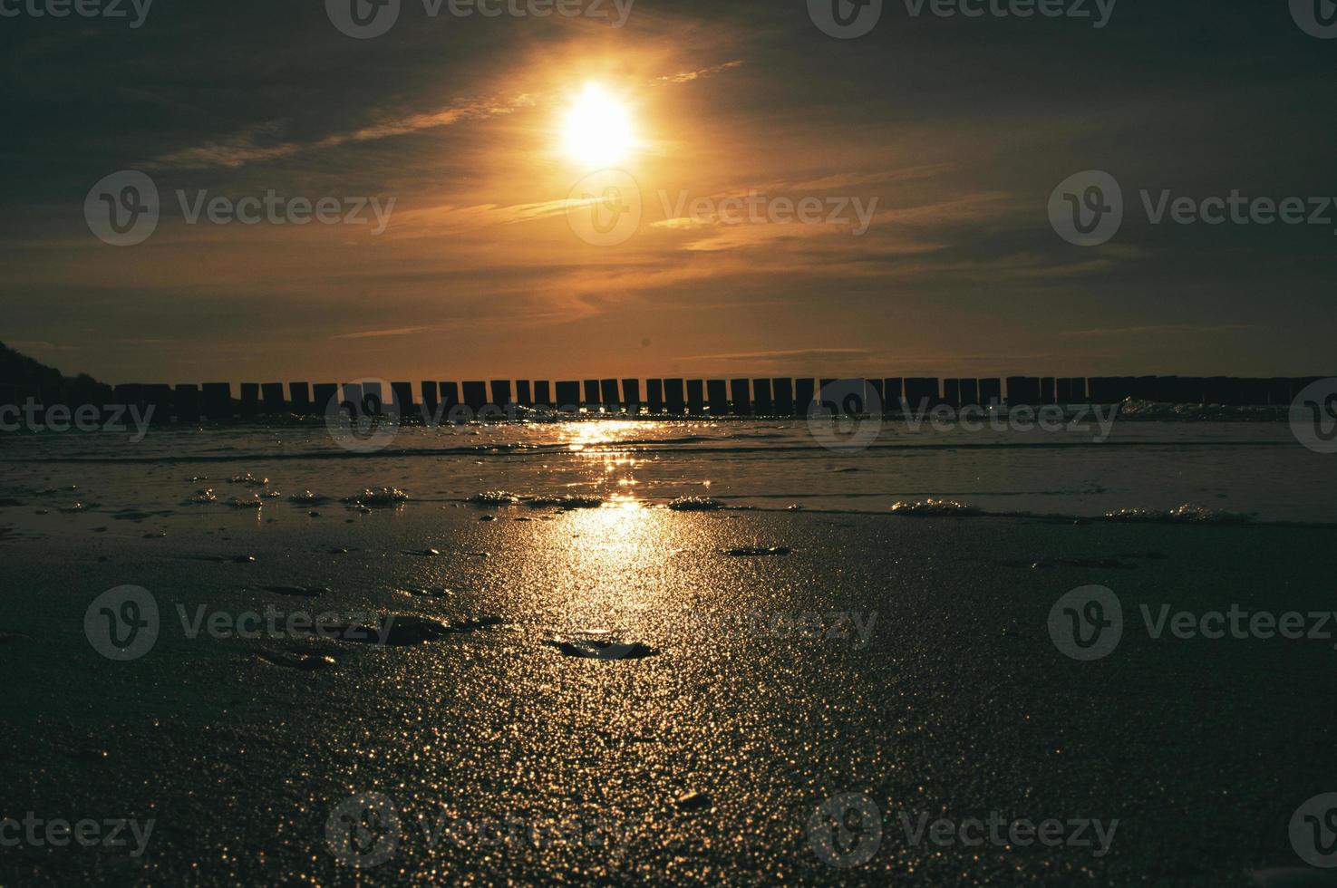
M 447 419 L 460 408 L 480 413 L 508 407 L 586 409 L 608 413 L 668 413 L 713 416 L 805 415 L 816 401 L 842 412 L 898 412 L 945 404 L 952 408 L 1048 404 L 1116 404 L 1126 399 L 1174 404 L 1285 405 L 1308 384 L 1324 377 L 1242 378 L 1226 376 L 1103 376 L 1005 378 L 884 377 L 860 380 L 775 378 L 647 378 L 644 397 L 639 378 L 491 380 L 465 382 L 242 382 L 233 395 L 230 382 L 203 385 L 136 385 L 106 388 L 103 404 L 154 408 L 156 419 L 182 421 L 231 420 L 259 415 L 325 413 L 332 404 L 356 409 L 390 411 L 404 416 Z M 1004 386 L 1005 382 L 1005 386 Z M 389 391 L 384 391 L 388 388 Z M 87 392 L 80 403 L 92 403 Z M 0 407 L 70 404 L 59 388 L 0 385 Z M 453 412 L 453 413 L 452 413 Z

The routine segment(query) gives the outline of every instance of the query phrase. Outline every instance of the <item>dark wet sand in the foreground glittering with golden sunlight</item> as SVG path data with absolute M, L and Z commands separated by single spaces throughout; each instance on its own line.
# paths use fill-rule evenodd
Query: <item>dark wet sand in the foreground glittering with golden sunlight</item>
M 1138 613 L 1332 610 L 1333 528 L 144 511 L 0 512 L 5 816 L 155 821 L 139 856 L 4 848 L 5 884 L 1250 884 L 1304 867 L 1292 813 L 1337 789 L 1333 639 L 1152 639 Z M 1079 662 L 1047 621 L 1092 583 L 1126 627 Z M 162 617 L 130 662 L 84 630 L 122 584 Z M 189 638 L 178 607 L 338 631 Z M 416 643 L 348 637 L 386 615 Z M 846 793 L 882 824 L 852 868 L 809 828 Z M 393 805 L 390 844 L 348 816 L 368 798 Z M 993 812 L 1118 829 L 1096 856 L 902 828 Z M 381 832 L 341 845 L 357 822 Z M 360 869 L 349 848 L 390 853 Z

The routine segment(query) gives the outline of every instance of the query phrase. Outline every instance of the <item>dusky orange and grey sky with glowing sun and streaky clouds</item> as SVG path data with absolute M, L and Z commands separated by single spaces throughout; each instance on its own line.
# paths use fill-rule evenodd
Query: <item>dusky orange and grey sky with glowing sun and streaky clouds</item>
M 110 382 L 1337 372 L 1328 0 L 836 1 L 877 15 L 0 0 L 0 340 Z M 1087 171 L 1122 223 L 1072 243 Z M 1305 222 L 1195 215 L 1233 190 Z

